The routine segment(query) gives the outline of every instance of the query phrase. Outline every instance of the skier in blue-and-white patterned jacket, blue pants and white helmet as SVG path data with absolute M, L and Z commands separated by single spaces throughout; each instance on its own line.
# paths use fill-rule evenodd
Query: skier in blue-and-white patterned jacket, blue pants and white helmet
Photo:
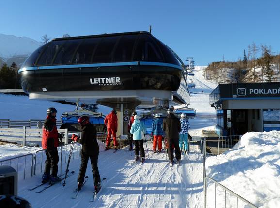
M 185 154 L 187 154 L 187 152 L 188 152 L 188 130 L 190 128 L 190 125 L 189 125 L 186 113 L 181 114 L 180 124 L 181 124 L 181 132 L 179 133 L 179 136 L 180 136 L 179 147 L 182 151 L 183 142 L 184 142 L 184 151 L 185 151 Z

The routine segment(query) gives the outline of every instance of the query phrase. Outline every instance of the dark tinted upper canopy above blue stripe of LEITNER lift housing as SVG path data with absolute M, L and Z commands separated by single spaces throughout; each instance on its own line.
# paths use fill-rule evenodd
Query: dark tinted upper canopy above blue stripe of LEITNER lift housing
M 56 38 L 34 51 L 22 67 L 132 61 L 181 66 L 169 47 L 149 32 L 127 32 Z

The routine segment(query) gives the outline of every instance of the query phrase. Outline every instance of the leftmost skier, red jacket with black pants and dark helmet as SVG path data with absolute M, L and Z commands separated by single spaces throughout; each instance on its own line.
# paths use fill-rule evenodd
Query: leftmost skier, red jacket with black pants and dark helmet
M 57 110 L 53 107 L 47 109 L 47 118 L 43 125 L 42 148 L 45 149 L 47 156 L 45 162 L 45 171 L 42 176 L 42 183 L 57 182 L 60 178 L 57 177 L 59 156 L 57 147 L 59 146 L 59 134 L 56 127 L 56 113 Z M 51 175 L 50 175 L 51 171 Z

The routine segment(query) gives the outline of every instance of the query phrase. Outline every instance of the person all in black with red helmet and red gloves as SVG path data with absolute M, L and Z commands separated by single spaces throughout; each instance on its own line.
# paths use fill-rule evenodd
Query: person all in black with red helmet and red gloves
M 99 155 L 99 146 L 97 143 L 97 134 L 96 128 L 90 123 L 89 117 L 81 116 L 78 118 L 78 124 L 82 128 L 81 137 L 78 138 L 77 135 L 72 135 L 72 140 L 78 142 L 82 145 L 81 149 L 81 166 L 78 174 L 78 190 L 81 189 L 84 182 L 84 177 L 87 169 L 87 164 L 89 158 L 91 158 L 92 170 L 93 170 L 93 180 L 94 180 L 94 189 L 99 191 L 100 186 L 100 175 L 98 171 L 98 155 Z

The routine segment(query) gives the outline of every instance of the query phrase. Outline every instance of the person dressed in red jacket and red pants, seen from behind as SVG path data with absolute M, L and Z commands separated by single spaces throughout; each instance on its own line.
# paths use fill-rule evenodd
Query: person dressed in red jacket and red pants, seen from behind
M 117 111 L 112 110 L 111 113 L 109 113 L 105 117 L 104 123 L 107 127 L 106 150 L 109 149 L 112 134 L 113 134 L 115 150 L 117 150 L 117 147 L 118 147 L 118 141 L 117 141 L 117 136 L 116 136 L 116 133 L 118 131 Z

